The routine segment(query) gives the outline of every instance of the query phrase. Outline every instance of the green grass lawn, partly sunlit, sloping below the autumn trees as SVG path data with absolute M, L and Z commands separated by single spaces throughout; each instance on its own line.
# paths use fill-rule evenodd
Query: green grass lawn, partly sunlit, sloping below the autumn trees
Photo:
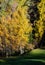
M 23 56 L 0 59 L 0 65 L 45 65 L 45 50 L 35 49 Z

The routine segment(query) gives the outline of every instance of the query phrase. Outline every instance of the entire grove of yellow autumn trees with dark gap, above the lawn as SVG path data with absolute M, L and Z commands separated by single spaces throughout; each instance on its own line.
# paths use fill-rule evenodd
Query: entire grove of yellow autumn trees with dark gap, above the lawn
M 0 0 L 0 55 L 22 54 L 43 44 L 45 0 Z

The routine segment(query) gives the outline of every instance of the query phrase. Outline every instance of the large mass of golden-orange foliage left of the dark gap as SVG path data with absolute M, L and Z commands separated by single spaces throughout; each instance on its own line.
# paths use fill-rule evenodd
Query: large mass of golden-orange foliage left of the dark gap
M 3 43 L 4 46 L 10 46 L 12 44 L 15 48 L 22 43 L 25 45 L 28 42 L 32 27 L 26 16 L 28 7 L 22 7 L 25 1 L 22 0 L 18 4 L 17 9 L 13 7 L 16 2 L 11 1 L 7 2 L 8 5 L 5 5 L 6 15 L 0 17 L 0 38 L 2 40 L 1 44 Z

